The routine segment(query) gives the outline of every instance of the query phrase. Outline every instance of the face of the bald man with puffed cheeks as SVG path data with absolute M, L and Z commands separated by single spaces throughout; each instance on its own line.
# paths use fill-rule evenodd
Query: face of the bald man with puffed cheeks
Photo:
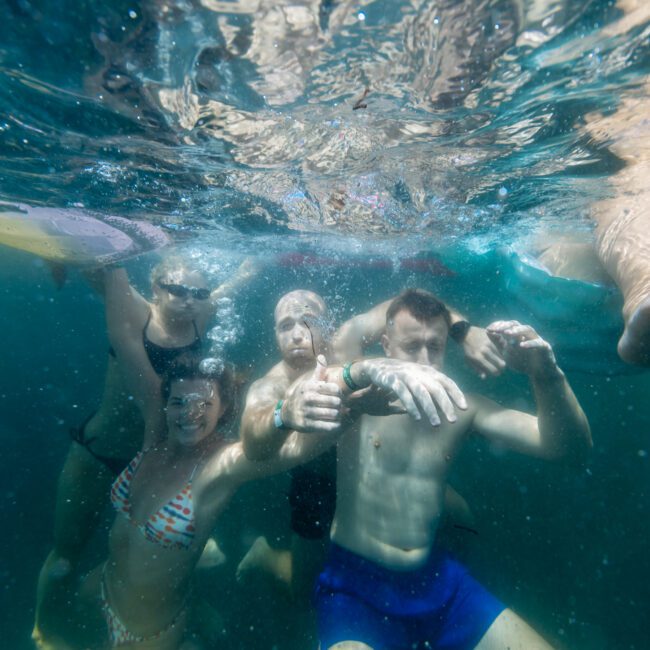
M 311 291 L 292 291 L 280 298 L 275 308 L 275 339 L 289 367 L 313 367 L 325 347 L 325 315 L 325 303 Z

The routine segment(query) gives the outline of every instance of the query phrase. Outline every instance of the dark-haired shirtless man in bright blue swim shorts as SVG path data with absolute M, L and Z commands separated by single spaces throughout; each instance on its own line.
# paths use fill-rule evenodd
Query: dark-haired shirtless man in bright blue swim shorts
M 528 375 L 537 416 L 429 388 L 437 376 L 448 380 L 436 371 L 449 330 L 442 303 L 407 290 L 387 311 L 387 358 L 337 369 L 343 395 L 371 380 L 391 386 L 394 377 L 413 413 L 399 387 L 410 377 L 427 386 L 435 408 L 419 419 L 362 415 L 339 439 L 332 545 L 316 588 L 321 650 L 550 647 L 436 547 L 436 530 L 450 467 L 470 433 L 525 454 L 581 462 L 591 447 L 589 424 L 551 346 L 517 321 L 493 323 L 487 332 L 507 366 Z

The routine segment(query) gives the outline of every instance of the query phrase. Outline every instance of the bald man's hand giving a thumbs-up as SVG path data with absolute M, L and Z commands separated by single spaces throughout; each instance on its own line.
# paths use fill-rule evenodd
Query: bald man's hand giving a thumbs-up
M 314 371 L 287 390 L 282 420 L 295 431 L 331 433 L 341 427 L 342 405 L 339 386 L 327 380 L 327 360 L 319 354 Z

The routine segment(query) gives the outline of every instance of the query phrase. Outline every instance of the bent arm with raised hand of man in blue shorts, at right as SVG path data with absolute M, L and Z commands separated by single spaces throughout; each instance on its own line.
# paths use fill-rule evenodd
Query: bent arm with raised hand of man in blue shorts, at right
M 499 321 L 487 331 L 508 366 L 529 376 L 537 417 L 477 397 L 477 432 L 531 456 L 583 462 L 592 446 L 589 423 L 549 343 L 517 321 Z

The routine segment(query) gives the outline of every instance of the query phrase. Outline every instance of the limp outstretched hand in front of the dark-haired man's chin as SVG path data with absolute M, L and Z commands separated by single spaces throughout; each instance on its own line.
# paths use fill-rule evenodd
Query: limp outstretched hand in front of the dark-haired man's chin
M 449 422 L 455 422 L 456 407 L 467 408 L 456 383 L 431 366 L 391 358 L 365 359 L 359 363 L 370 382 L 395 393 L 404 410 L 416 420 L 424 415 L 433 426 L 438 426 L 439 410 Z

